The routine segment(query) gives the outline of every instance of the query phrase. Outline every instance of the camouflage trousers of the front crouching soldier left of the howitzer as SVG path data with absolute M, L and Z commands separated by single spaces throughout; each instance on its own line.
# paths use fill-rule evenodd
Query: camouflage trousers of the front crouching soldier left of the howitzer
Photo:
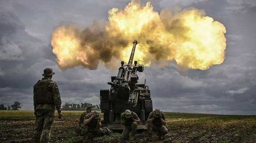
M 95 129 L 90 129 L 88 127 L 88 125 L 82 125 L 81 126 L 81 135 L 84 136 L 84 141 L 86 143 L 86 141 L 88 141 L 88 138 L 93 138 L 96 136 L 102 136 L 103 130 L 102 128 L 95 128 Z

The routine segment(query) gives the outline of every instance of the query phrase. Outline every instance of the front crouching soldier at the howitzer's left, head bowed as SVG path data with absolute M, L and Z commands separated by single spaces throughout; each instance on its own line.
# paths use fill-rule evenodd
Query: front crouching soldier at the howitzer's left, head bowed
M 86 143 L 96 136 L 109 134 L 109 129 L 101 127 L 100 114 L 97 111 L 90 112 L 84 116 L 84 123 L 81 125 L 81 134 L 84 136 L 83 142 Z

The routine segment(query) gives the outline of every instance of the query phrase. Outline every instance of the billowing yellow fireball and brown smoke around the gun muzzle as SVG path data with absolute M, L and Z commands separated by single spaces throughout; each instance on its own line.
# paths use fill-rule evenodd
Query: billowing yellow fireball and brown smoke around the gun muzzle
M 132 1 L 123 10 L 109 10 L 108 19 L 85 29 L 76 24 L 55 28 L 51 44 L 60 68 L 82 65 L 94 70 L 99 63 L 111 68 L 112 61 L 127 62 L 134 40 L 138 41 L 134 60 L 145 66 L 176 61 L 185 69 L 207 70 L 224 61 L 226 29 L 203 10 L 159 14 L 150 2 L 143 6 Z

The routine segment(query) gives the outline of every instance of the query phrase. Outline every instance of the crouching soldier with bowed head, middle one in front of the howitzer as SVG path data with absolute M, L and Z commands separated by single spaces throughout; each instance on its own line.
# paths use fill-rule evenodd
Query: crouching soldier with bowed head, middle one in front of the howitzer
M 133 140 L 139 123 L 140 119 L 135 112 L 130 110 L 124 111 L 121 114 L 121 124 L 124 125 L 122 139 L 128 140 L 129 133 L 131 132 L 130 140 Z

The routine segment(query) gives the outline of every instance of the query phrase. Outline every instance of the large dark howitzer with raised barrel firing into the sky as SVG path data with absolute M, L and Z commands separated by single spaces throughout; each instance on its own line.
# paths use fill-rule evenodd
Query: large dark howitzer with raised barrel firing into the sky
M 137 72 L 144 71 L 144 65 L 133 62 L 137 41 L 133 42 L 132 53 L 127 65 L 121 61 L 117 76 L 111 77 L 110 90 L 100 90 L 100 109 L 104 113 L 103 123 L 110 129 L 123 129 L 121 114 L 126 110 L 135 112 L 142 123 L 145 123 L 150 112 L 153 111 L 150 90 L 146 84 L 137 84 Z M 145 124 L 140 124 L 138 129 L 146 129 Z

